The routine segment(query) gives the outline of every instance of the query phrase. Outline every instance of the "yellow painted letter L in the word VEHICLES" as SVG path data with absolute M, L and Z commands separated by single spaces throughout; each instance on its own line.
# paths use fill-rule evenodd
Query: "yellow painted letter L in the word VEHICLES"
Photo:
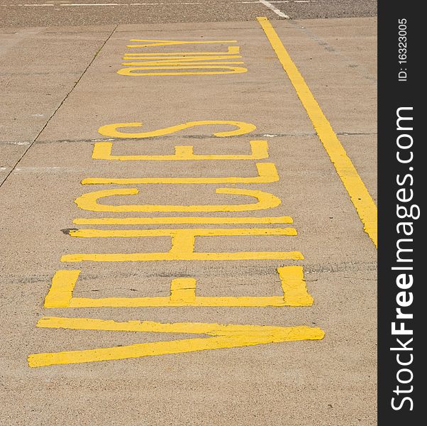
M 258 175 L 250 178 L 235 176 L 224 178 L 86 178 L 82 185 L 142 185 L 152 183 L 190 184 L 190 183 L 271 183 L 279 180 L 274 163 L 255 163 Z

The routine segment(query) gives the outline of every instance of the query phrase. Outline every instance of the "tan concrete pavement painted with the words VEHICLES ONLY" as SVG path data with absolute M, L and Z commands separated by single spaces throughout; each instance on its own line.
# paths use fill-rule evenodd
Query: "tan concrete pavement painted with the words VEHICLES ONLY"
M 261 14 L 266 15 L 271 16 Z M 271 22 L 375 199 L 375 18 Z M 1 240 L 6 241 L 1 246 L 6 302 L 1 312 L 2 422 L 375 425 L 375 245 L 363 231 L 355 204 L 260 23 L 253 19 L 13 31 L 18 38 L 3 30 L 0 57 L 6 82 L 1 173 L 7 178 L 0 189 Z M 135 39 L 204 43 L 156 46 L 158 41 L 130 41 Z M 138 43 L 151 46 L 127 47 Z M 118 73 L 146 66 L 121 65 L 141 62 L 135 53 L 149 53 L 161 61 L 165 53 L 180 56 L 182 52 L 187 57 L 207 52 L 205 57 L 215 53 L 212 56 L 222 58 L 204 58 L 208 65 L 187 60 L 192 69 L 179 68 L 186 66 L 181 58 L 181 65 L 148 65 L 161 70 Z M 221 64 L 228 68 L 215 61 L 228 62 Z M 224 70 L 235 72 L 132 75 Z M 143 125 L 126 126 L 135 122 Z M 184 123 L 193 125 L 158 132 Z M 115 127 L 116 133 L 112 127 L 99 131 L 112 124 L 121 124 Z M 242 134 L 214 134 L 233 132 L 239 126 L 240 130 L 245 127 Z M 121 132 L 151 133 L 132 138 Z M 266 141 L 268 157 L 250 158 L 250 141 Z M 109 146 L 99 143 L 113 143 L 111 155 L 154 157 L 108 159 L 105 148 Z M 96 146 L 107 158 L 94 154 Z M 176 146 L 193 146 L 196 155 L 248 158 L 192 159 L 187 149 L 187 154 L 181 154 L 187 160 L 173 160 Z M 264 180 L 257 180 L 257 163 L 272 163 L 275 171 L 270 167 Z M 100 178 L 113 183 L 81 183 Z M 150 178 L 157 182 L 147 182 Z M 201 178 L 216 181 L 196 181 Z M 138 179 L 145 181 L 135 182 Z M 106 207 L 110 211 L 74 202 L 96 191 L 132 188 L 139 194 L 117 193 L 98 200 L 113 206 Z M 218 188 L 262 191 L 279 198 L 281 204 L 235 212 L 235 206 L 254 203 L 255 198 L 241 192 L 216 193 Z M 135 207 L 147 204 L 184 207 L 154 212 L 150 207 Z M 206 207 L 213 205 L 227 207 L 214 211 Z M 188 217 L 199 219 L 184 219 Z M 233 222 L 238 217 L 252 222 Z M 257 224 L 258 218 L 265 217 L 282 219 Z M 102 222 L 109 218 L 116 218 L 115 224 Z M 151 218 L 157 222 L 151 223 Z M 192 241 L 182 239 L 175 240 L 177 250 L 168 255 L 169 260 L 164 253 L 173 243 L 170 236 L 135 235 L 135 230 L 194 228 L 213 233 L 194 240 L 194 253 L 214 253 L 208 259 L 185 258 Z M 297 235 L 284 231 L 289 228 Z M 85 238 L 87 234 L 76 229 L 104 234 Z M 231 236 L 215 234 L 215 229 L 223 234 L 227 229 L 250 231 Z M 263 234 L 251 235 L 256 229 L 264 229 Z M 269 235 L 266 229 L 278 231 Z M 126 236 L 123 230 L 134 231 L 134 236 Z M 275 254 L 266 256 L 266 252 Z M 296 252 L 304 259 L 284 255 Z M 103 261 L 102 255 L 108 253 L 118 257 Z M 130 253 L 146 256 L 130 261 L 126 258 Z M 216 253 L 228 253 L 223 257 L 230 259 L 221 260 Z M 235 253 L 250 254 L 235 260 Z M 84 256 L 89 254 L 98 257 L 87 261 Z M 157 260 L 146 259 L 153 256 Z M 278 268 L 287 269 L 279 275 Z M 58 278 L 58 271 L 81 271 L 74 289 L 61 287 L 67 283 Z M 292 271 L 304 273 L 306 289 Z M 52 283 L 55 276 L 58 279 Z M 52 292 L 55 283 L 58 291 Z M 305 302 L 295 298 L 295 288 Z M 280 306 L 259 298 L 283 295 Z M 204 303 L 211 306 L 198 306 L 197 297 L 205 297 Z M 243 302 L 244 297 L 254 299 Z M 132 300 L 133 307 L 129 306 Z M 249 302 L 253 305 L 248 306 Z M 65 307 L 72 303 L 76 307 Z M 43 317 L 77 322 L 40 322 Z M 188 334 L 194 327 L 189 323 L 204 325 Z M 163 329 L 159 324 L 172 326 Z M 292 341 L 282 328 L 270 330 L 267 334 L 276 336 L 270 343 L 262 340 L 266 335 L 262 330 L 253 329 L 254 340 L 248 343 L 236 331 L 237 337 L 231 335 L 233 342 L 226 346 L 221 343 L 224 330 L 215 326 L 214 334 L 206 335 L 206 324 L 294 327 L 294 336 L 295 327 L 306 327 L 304 333 L 314 334 L 303 333 Z M 143 328 L 138 332 L 138 327 Z M 250 335 L 246 333 L 244 339 Z M 212 335 L 218 339 L 217 346 L 208 343 L 200 350 L 197 345 L 206 345 Z M 184 346 L 194 351 L 180 351 L 179 343 L 150 346 L 182 339 L 193 339 Z M 103 352 L 101 348 L 111 349 Z M 95 352 L 84 352 L 88 349 Z M 142 356 L 145 352 L 138 356 L 138 351 L 145 350 L 154 356 Z M 64 351 L 72 354 L 38 355 Z M 48 365 L 52 359 L 60 361 Z

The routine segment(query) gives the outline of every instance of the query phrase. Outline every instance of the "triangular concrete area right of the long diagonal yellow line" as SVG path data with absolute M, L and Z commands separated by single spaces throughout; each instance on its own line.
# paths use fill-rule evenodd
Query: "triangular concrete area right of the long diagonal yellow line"
M 276 28 L 376 200 L 376 18 L 348 23 L 313 19 Z

